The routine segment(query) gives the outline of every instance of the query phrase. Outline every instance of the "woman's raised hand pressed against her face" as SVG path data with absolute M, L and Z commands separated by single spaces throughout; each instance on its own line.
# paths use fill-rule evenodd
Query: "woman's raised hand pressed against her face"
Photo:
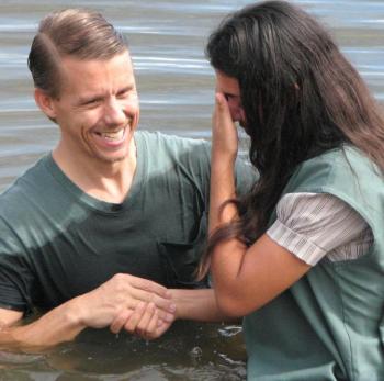
M 212 115 L 212 156 L 217 160 L 235 161 L 238 149 L 237 128 L 225 96 L 216 92 L 215 100 Z

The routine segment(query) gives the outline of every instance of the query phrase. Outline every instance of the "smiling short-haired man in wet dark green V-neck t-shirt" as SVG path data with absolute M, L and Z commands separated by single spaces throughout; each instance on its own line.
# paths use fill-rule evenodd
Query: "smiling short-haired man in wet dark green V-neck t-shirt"
M 55 345 L 87 327 L 156 324 L 160 334 L 174 318 L 216 318 L 201 314 L 210 290 L 163 287 L 202 285 L 193 273 L 206 235 L 208 145 L 135 133 L 128 48 L 98 13 L 46 16 L 29 67 L 60 139 L 0 198 L 0 345 Z M 16 325 L 34 307 L 48 312 Z

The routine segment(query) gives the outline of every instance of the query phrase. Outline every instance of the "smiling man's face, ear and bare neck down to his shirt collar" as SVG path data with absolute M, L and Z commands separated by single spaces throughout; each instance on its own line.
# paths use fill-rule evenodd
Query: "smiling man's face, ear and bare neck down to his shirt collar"
M 33 65 L 31 59 L 32 71 Z M 35 90 L 36 103 L 60 127 L 53 158 L 86 193 L 121 203 L 136 169 L 133 135 L 139 115 L 129 54 L 83 60 L 64 56 L 58 69 L 57 96 Z

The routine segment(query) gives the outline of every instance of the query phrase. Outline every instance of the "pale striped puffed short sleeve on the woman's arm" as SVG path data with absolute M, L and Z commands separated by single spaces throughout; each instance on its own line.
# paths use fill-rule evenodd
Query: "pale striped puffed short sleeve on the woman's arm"
M 372 244 L 366 222 L 332 194 L 287 193 L 279 201 L 276 215 L 269 237 L 310 266 L 325 256 L 355 259 Z

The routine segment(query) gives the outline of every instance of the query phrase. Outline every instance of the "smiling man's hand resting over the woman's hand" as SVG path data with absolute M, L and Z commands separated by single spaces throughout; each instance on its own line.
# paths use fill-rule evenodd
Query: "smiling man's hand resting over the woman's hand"
M 176 306 L 169 291 L 150 280 L 129 274 L 116 274 L 95 290 L 74 300 L 79 311 L 79 322 L 92 328 L 111 326 L 118 316 L 125 316 L 127 321 L 140 302 L 156 307 L 158 320 L 173 321 Z

